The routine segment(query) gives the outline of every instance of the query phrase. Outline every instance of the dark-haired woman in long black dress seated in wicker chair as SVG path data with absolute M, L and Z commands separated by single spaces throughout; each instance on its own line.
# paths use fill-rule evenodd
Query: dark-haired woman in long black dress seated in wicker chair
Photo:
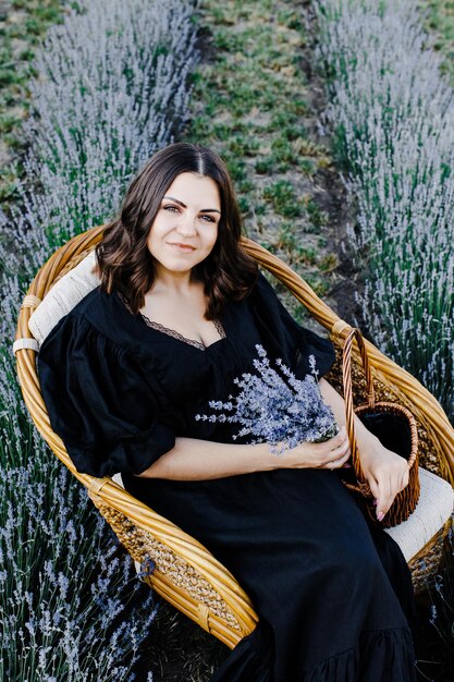
M 299 327 L 240 244 L 221 159 L 175 144 L 132 182 L 97 246 L 101 284 L 66 315 L 38 360 L 52 428 L 77 471 L 122 473 L 125 488 L 232 571 L 260 621 L 212 682 L 415 680 L 413 593 L 395 543 L 369 527 L 336 472 L 341 427 L 277 456 L 196 421 L 253 368 L 256 344 L 298 378 L 331 367 L 330 341 Z M 382 519 L 408 483 L 405 462 L 356 419 Z

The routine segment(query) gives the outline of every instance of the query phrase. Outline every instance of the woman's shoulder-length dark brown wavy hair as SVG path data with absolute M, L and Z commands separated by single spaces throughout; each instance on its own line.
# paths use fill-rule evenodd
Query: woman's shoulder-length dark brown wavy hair
M 101 289 L 116 290 L 132 313 L 145 305 L 155 281 L 155 266 L 147 239 L 169 186 L 180 173 L 211 178 L 221 198 L 218 239 L 211 253 L 194 267 L 204 282 L 207 319 L 219 317 L 228 301 L 244 299 L 257 276 L 257 263 L 241 245 L 242 218 L 229 171 L 211 149 L 189 143 L 164 147 L 147 161 L 131 182 L 119 217 L 106 227 L 96 246 Z

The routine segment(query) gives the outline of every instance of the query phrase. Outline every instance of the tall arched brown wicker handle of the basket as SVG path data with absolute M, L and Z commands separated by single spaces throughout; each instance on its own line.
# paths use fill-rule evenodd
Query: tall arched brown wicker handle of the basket
M 358 485 L 363 495 L 371 496 L 369 484 L 363 473 L 361 464 L 359 461 L 359 451 L 356 442 L 355 435 L 355 412 L 353 409 L 353 391 L 352 391 L 352 345 L 353 340 L 356 339 L 358 350 L 363 361 L 363 368 L 366 374 L 367 383 L 367 401 L 371 410 L 376 406 L 376 392 L 372 383 L 372 373 L 370 370 L 369 357 L 366 350 L 361 332 L 356 327 L 352 327 L 345 339 L 343 357 L 342 357 L 342 376 L 344 382 L 344 401 L 345 401 L 345 416 L 346 416 L 346 429 L 348 434 L 348 440 L 352 451 L 352 462 L 358 479 Z

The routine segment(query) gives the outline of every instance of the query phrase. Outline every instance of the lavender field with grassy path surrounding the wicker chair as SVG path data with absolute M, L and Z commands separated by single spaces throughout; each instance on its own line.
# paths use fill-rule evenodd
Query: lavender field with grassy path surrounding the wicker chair
M 7 19 L 25 12 L 7 4 Z M 250 236 L 351 314 L 454 423 L 454 90 L 426 29 L 432 4 L 62 0 L 49 15 L 8 161 L 13 190 L 0 192 L 0 682 L 203 682 L 226 655 L 196 641 L 196 625 L 186 642 L 173 634 L 184 617 L 143 585 L 40 438 L 12 353 L 36 271 L 109 220 L 170 142 L 216 148 Z M 420 680 L 433 682 L 454 675 L 454 552 L 445 563 L 421 611 L 433 665 Z

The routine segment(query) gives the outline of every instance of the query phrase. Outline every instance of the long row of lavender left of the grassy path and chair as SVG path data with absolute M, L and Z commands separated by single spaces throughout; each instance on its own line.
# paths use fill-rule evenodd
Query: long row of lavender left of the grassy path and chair
M 2 680 L 132 680 L 155 618 L 132 560 L 115 558 L 110 528 L 30 422 L 12 343 L 37 269 L 111 217 L 130 176 L 184 121 L 194 4 L 83 0 L 36 59 L 22 205 L 0 216 Z

